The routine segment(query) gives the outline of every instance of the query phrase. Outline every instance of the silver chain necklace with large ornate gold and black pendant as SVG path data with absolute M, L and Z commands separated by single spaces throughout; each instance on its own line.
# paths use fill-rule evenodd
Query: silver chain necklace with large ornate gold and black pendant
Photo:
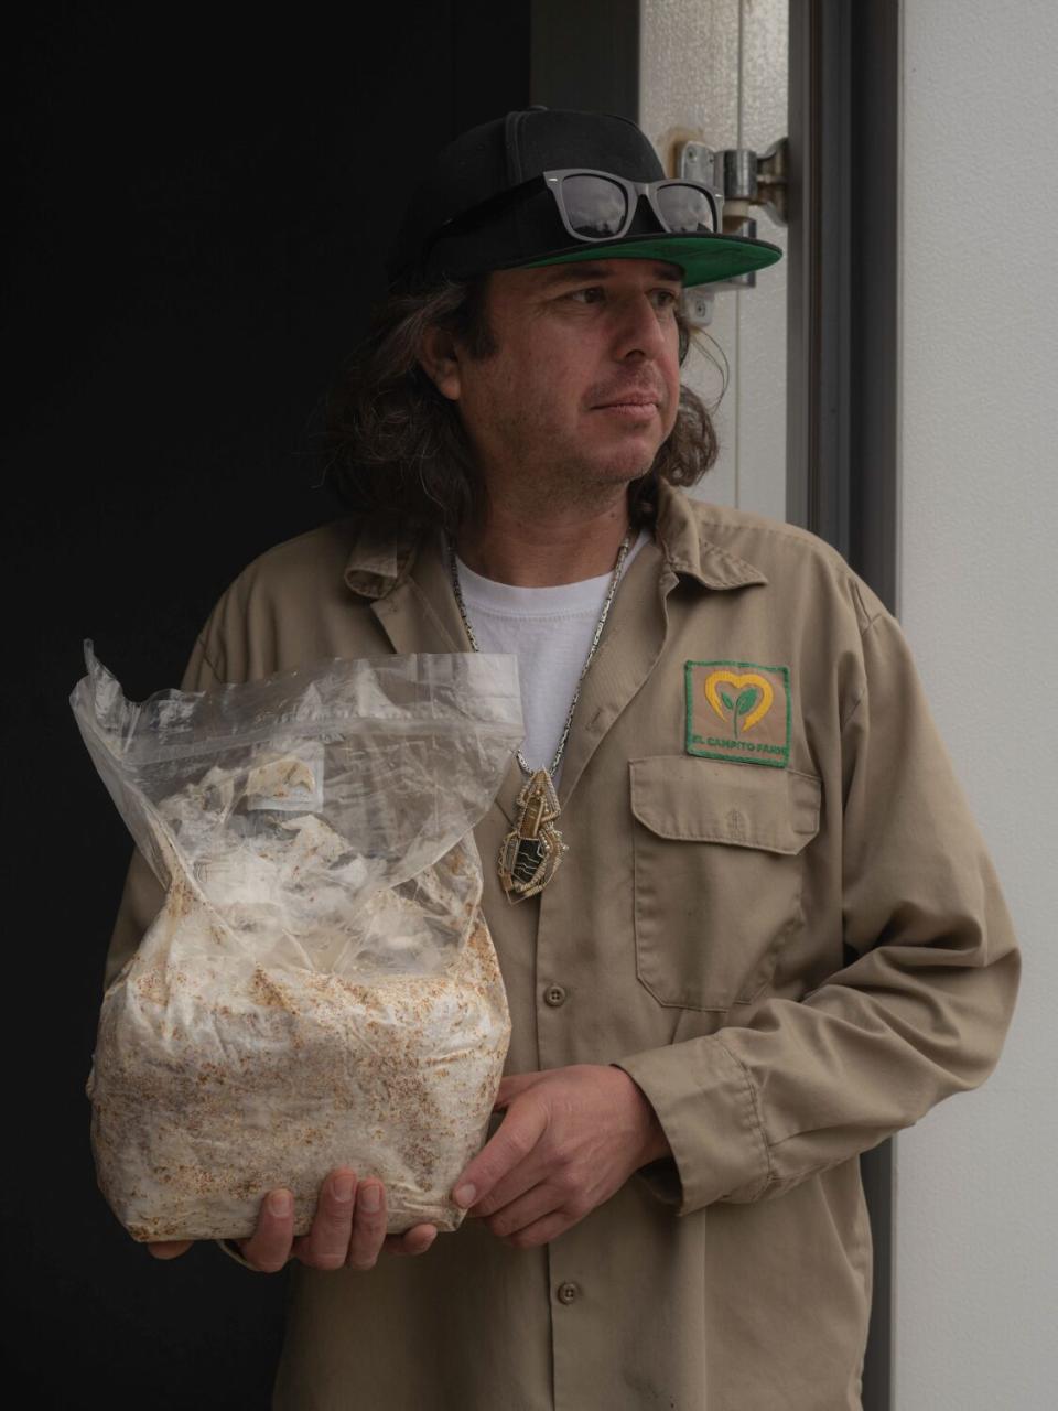
M 460 617 L 463 618 L 463 626 L 467 632 L 470 645 L 475 652 L 480 652 L 481 648 L 478 646 L 478 639 L 474 636 L 474 628 L 470 625 L 470 617 L 467 615 L 467 605 L 463 601 L 458 564 L 456 563 L 456 542 L 451 535 L 447 536 L 447 543 L 449 570 L 451 573 L 451 587 L 456 594 L 456 604 L 460 610 Z M 568 852 L 567 844 L 561 841 L 561 834 L 554 827 L 560 810 L 553 776 L 561 763 L 561 756 L 566 751 L 566 741 L 570 738 L 573 713 L 576 711 L 577 701 L 580 700 L 580 689 L 584 683 L 584 677 L 588 674 L 591 659 L 594 658 L 595 648 L 602 636 L 607 614 L 609 612 L 609 605 L 614 601 L 616 586 L 621 581 L 621 569 L 624 567 L 631 543 L 632 531 L 629 529 L 621 540 L 621 547 L 618 549 L 618 557 L 614 564 L 614 576 L 609 580 L 607 601 L 602 604 L 602 612 L 595 624 L 595 632 L 591 638 L 588 655 L 584 660 L 584 666 L 580 669 L 580 676 L 577 677 L 577 687 L 566 714 L 566 724 L 563 725 L 559 748 L 554 751 L 552 768 L 532 769 L 522 751 L 518 751 L 516 759 L 519 768 L 528 777 L 521 793 L 518 794 L 518 821 L 511 832 L 508 832 L 504 838 L 504 845 L 499 849 L 499 880 L 504 885 L 508 902 L 523 902 L 528 896 L 536 896 L 537 892 L 543 892 L 554 873 L 559 871 L 559 864 L 561 862 L 564 854 Z

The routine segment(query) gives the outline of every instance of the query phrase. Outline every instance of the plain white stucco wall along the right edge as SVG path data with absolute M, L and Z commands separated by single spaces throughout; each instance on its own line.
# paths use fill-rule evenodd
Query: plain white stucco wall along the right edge
M 897 1411 L 1058 1405 L 1058 7 L 906 0 L 901 619 L 1024 948 L 897 1140 Z

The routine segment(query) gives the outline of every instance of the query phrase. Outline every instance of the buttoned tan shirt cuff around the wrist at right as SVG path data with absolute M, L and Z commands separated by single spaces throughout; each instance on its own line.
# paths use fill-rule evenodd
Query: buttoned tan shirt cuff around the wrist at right
M 615 1064 L 643 1089 L 657 1113 L 683 1189 L 671 1165 L 656 1161 L 639 1173 L 679 1215 L 714 1201 L 753 1201 L 767 1188 L 772 1167 L 753 1082 L 718 1036 L 647 1048 Z

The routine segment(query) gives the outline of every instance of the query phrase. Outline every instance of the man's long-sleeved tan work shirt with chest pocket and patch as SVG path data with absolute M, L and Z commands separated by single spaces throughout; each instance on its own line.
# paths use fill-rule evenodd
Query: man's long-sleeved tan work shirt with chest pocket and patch
M 236 580 L 185 686 L 467 649 L 440 535 L 343 521 Z M 662 487 L 577 706 L 570 851 L 512 906 L 521 783 L 475 830 L 506 1071 L 618 1062 L 674 1160 L 542 1249 L 468 1221 L 370 1273 L 296 1267 L 275 1405 L 858 1408 L 856 1156 L 982 1082 L 1019 978 L 900 628 L 811 535 Z M 135 861 L 111 974 L 159 904 Z

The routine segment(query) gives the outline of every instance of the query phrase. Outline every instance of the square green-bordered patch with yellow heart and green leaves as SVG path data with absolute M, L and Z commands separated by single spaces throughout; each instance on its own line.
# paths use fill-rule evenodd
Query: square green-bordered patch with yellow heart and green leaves
M 687 662 L 687 753 L 738 765 L 790 763 L 790 669 Z

